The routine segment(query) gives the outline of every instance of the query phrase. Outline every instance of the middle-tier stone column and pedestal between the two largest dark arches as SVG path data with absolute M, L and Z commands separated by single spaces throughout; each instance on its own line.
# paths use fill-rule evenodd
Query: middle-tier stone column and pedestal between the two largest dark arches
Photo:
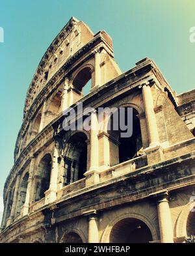
M 98 115 L 96 110 L 91 113 L 90 130 L 90 168 L 86 171 L 86 186 L 99 182 L 99 150 L 98 150 Z

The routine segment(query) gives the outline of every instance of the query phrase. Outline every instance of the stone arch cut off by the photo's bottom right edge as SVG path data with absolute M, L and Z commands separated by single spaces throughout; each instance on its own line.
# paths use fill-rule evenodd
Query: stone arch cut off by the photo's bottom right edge
M 189 236 L 190 234 L 190 226 L 194 227 L 194 235 L 195 235 L 195 212 L 194 208 L 195 202 L 190 201 L 187 203 L 187 205 L 183 206 L 183 209 L 181 210 L 179 217 L 177 219 L 177 224 L 175 227 L 175 236 L 181 237 L 181 236 Z M 193 211 L 190 211 L 192 210 Z M 193 224 L 193 225 L 192 225 Z

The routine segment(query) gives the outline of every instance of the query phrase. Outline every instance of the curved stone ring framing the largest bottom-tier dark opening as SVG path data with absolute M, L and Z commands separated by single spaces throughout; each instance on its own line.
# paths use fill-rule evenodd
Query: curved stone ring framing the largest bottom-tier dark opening
M 119 221 L 125 220 L 127 218 L 142 221 L 142 223 L 144 223 L 151 232 L 152 239 L 158 240 L 157 230 L 155 229 L 153 223 L 151 223 L 151 221 L 149 221 L 149 219 L 146 216 L 138 212 L 129 212 L 125 214 L 120 214 L 119 216 L 117 216 L 117 218 L 114 218 L 109 222 L 109 224 L 105 228 L 105 231 L 103 232 L 103 235 L 101 236 L 101 242 L 110 242 L 110 233 L 114 225 L 116 225 L 116 223 L 119 223 Z

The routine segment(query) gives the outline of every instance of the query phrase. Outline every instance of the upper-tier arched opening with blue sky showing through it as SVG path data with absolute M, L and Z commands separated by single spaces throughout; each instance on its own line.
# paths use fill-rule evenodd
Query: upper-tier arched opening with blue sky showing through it
M 92 72 L 91 68 L 86 67 L 83 68 L 73 79 L 73 86 L 75 89 L 77 89 L 79 92 L 81 92 L 81 95 L 86 95 L 90 92 L 90 89 L 92 87 Z

